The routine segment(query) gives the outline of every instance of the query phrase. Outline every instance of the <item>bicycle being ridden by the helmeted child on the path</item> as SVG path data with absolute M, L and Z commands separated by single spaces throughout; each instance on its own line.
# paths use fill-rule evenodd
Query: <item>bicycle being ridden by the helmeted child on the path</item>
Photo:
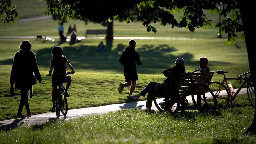
M 70 72 L 67 72 L 66 75 L 71 74 Z M 49 75 L 46 75 L 49 76 Z M 68 113 L 68 102 L 67 98 L 64 96 L 64 90 L 65 87 L 62 82 L 58 83 L 58 89 L 56 91 L 56 96 L 55 96 L 55 111 L 56 111 L 56 116 L 60 117 L 60 112 L 63 115 L 66 115 Z

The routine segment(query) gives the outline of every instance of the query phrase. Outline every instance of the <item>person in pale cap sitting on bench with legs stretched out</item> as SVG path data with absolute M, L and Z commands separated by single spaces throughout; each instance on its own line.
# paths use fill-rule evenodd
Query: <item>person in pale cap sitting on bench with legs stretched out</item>
M 185 62 L 184 62 L 183 58 L 177 58 L 174 64 L 175 64 L 175 66 L 163 71 L 164 76 L 167 77 L 167 79 L 165 79 L 163 83 L 169 83 L 169 77 L 167 76 L 166 71 L 172 71 L 171 76 L 172 76 L 173 79 L 177 78 L 179 73 L 185 73 L 186 72 L 185 66 L 184 66 Z M 151 109 L 152 101 L 153 101 L 153 90 L 154 90 L 154 87 L 158 84 L 160 84 L 160 83 L 151 81 L 151 82 L 148 83 L 148 85 L 140 93 L 138 93 L 136 95 L 129 95 L 129 96 L 127 96 L 127 98 L 130 99 L 130 100 L 133 100 L 133 101 L 138 101 L 140 96 L 145 97 L 146 94 L 148 93 L 146 108 Z

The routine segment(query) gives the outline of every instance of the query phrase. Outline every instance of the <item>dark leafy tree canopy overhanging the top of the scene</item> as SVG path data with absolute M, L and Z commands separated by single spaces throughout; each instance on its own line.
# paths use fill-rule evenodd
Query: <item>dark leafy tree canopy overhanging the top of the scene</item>
M 42 0 L 38 0 L 42 1 Z M 224 19 L 215 25 L 219 33 L 227 33 L 226 45 L 235 44 L 237 33 L 242 33 L 244 39 L 241 14 L 236 0 L 129 0 L 122 2 L 118 0 L 47 0 L 48 15 L 57 14 L 68 21 L 70 18 L 79 17 L 81 20 L 92 20 L 101 23 L 105 19 L 122 19 L 126 23 L 142 21 L 147 31 L 157 32 L 152 23 L 160 25 L 170 24 L 173 27 L 186 28 L 193 32 L 196 28 L 214 27 L 211 20 L 208 20 L 203 10 L 209 10 L 211 14 L 220 13 Z M 118 5 L 118 6 L 117 6 Z M 220 11 L 220 6 L 222 10 Z M 0 2 L 0 18 L 6 15 L 2 25 L 15 23 L 19 18 L 15 10 L 15 4 L 11 0 Z M 177 18 L 173 13 L 182 13 Z

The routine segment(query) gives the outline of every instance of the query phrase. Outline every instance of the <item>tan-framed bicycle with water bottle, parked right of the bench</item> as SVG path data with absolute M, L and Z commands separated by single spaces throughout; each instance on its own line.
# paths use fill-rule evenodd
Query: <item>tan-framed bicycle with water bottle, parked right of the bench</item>
M 228 73 L 228 71 L 217 70 L 216 72 L 217 74 L 223 75 L 223 80 L 221 82 L 210 82 L 209 88 L 213 91 L 217 99 L 217 109 L 224 109 L 228 105 L 232 107 L 236 102 L 236 96 L 238 95 L 238 93 L 244 87 L 245 84 L 247 84 L 247 95 L 249 101 L 251 105 L 255 108 L 255 91 L 253 88 L 253 84 L 248 80 L 250 72 L 241 74 L 238 76 L 238 78 L 226 77 L 225 73 Z M 240 87 L 236 92 L 234 91 L 231 82 L 228 82 L 227 80 L 240 80 Z

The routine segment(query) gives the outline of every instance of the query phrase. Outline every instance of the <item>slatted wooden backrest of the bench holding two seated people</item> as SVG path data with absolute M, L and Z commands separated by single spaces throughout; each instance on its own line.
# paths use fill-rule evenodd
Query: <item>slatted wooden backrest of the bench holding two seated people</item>
M 208 85 L 213 77 L 213 74 L 214 71 L 206 72 L 204 75 L 201 75 L 201 72 L 195 72 L 191 75 L 191 78 L 195 83 Z M 191 82 L 189 80 L 189 73 L 180 73 L 177 79 L 178 80 L 174 80 L 174 86 L 176 87 L 180 96 L 184 97 L 191 95 L 191 88 L 193 85 L 191 85 Z

